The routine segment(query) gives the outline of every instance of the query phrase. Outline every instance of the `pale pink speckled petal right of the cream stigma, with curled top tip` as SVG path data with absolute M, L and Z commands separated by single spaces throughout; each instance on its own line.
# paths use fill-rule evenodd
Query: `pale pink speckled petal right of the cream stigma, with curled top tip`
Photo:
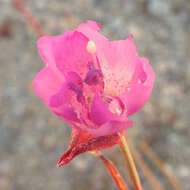
M 100 28 L 92 27 L 89 21 L 79 25 L 78 31 L 95 42 L 100 67 L 104 76 L 105 92 L 121 95 L 124 93 L 131 81 L 139 60 L 133 37 L 130 35 L 126 40 L 110 42 L 97 30 Z

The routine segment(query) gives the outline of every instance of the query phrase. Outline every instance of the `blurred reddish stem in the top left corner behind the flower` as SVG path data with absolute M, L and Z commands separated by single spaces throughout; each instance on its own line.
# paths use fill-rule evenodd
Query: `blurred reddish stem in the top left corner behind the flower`
M 40 36 L 47 35 L 39 22 L 33 17 L 29 9 L 24 6 L 21 0 L 12 0 L 12 2 L 15 7 L 24 15 L 26 20 L 29 22 L 29 24 L 32 26 L 37 34 L 39 34 Z

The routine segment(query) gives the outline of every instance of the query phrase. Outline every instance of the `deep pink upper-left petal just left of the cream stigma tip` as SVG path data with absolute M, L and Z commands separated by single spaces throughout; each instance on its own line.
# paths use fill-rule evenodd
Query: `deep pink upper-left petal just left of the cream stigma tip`
M 73 32 L 53 41 L 53 54 L 57 68 L 64 74 L 76 72 L 84 78 L 88 72 L 89 62 L 93 62 L 92 55 L 86 50 L 89 39 L 80 32 Z

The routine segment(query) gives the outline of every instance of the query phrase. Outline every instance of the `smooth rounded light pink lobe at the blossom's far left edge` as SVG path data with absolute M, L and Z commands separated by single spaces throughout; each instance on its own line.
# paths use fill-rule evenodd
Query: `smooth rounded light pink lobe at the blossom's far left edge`
M 46 104 L 49 98 L 61 88 L 62 81 L 50 67 L 43 68 L 34 79 L 34 91 Z

